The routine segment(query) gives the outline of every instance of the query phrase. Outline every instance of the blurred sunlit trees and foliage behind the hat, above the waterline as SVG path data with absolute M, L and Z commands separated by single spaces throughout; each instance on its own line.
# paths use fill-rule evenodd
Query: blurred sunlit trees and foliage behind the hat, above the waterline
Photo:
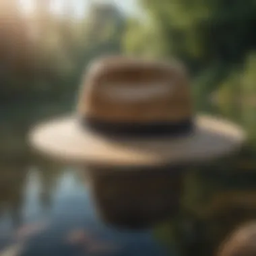
M 71 108 L 95 57 L 178 57 L 189 67 L 197 110 L 249 126 L 255 11 L 254 0 L 1 0 L 1 103 Z

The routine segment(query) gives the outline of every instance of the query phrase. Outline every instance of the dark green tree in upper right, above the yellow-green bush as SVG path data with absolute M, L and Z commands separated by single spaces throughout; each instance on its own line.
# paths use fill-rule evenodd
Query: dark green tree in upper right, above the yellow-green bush
M 140 0 L 139 3 L 148 14 L 150 28 L 154 28 L 150 33 L 158 42 L 152 44 L 154 40 L 148 39 L 147 26 L 133 27 L 125 49 L 129 53 L 148 51 L 162 58 L 162 53 L 155 49 L 163 44 L 165 55 L 185 61 L 194 77 L 199 77 L 193 87 L 197 99 L 209 100 L 210 94 L 220 88 L 230 72 L 256 47 L 254 0 Z

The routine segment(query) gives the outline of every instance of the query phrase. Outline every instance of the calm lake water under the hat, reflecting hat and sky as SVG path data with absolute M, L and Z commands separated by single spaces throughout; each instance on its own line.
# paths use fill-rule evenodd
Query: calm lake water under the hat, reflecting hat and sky
M 30 127 L 71 109 L 1 108 L 0 256 L 213 255 L 236 225 L 253 220 L 252 146 L 181 175 L 171 170 L 102 178 L 30 150 Z M 253 131 L 249 118 L 243 125 Z

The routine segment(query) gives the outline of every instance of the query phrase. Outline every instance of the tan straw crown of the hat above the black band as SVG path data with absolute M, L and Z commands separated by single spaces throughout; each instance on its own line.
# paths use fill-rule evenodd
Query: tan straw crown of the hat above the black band
M 82 86 L 82 117 L 142 124 L 191 118 L 187 74 L 177 63 L 108 57 L 92 63 Z

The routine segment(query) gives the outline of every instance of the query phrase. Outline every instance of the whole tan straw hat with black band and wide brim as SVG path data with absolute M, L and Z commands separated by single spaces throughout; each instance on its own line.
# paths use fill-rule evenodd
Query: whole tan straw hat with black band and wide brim
M 105 57 L 88 69 L 77 113 L 34 127 L 30 141 L 51 156 L 99 167 L 199 162 L 238 149 L 243 130 L 194 115 L 190 90 L 179 63 Z

